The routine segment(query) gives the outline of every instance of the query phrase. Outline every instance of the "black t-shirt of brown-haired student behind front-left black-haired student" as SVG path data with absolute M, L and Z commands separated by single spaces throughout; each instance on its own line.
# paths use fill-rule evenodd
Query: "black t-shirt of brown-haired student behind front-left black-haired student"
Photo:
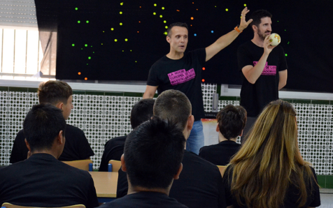
M 24 139 L 24 133 L 23 130 L 21 130 L 17 133 L 14 140 L 10 163 L 17 163 L 27 159 L 29 150 L 25 145 Z M 85 160 L 94 155 L 94 151 L 92 151 L 87 138 L 85 138 L 85 133 L 83 133 L 80 128 L 67 124 L 65 139 L 64 151 L 62 151 L 62 155 L 59 156 L 59 161 Z

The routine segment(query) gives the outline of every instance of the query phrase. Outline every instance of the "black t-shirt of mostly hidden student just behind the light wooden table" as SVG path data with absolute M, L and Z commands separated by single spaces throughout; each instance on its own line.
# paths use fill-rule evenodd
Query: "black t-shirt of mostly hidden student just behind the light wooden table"
M 127 136 L 122 136 L 113 138 L 106 142 L 104 145 L 103 156 L 101 156 L 101 165 L 99 165 L 99 171 L 108 172 L 108 161 L 120 161 L 120 158 L 124 153 L 126 138 Z

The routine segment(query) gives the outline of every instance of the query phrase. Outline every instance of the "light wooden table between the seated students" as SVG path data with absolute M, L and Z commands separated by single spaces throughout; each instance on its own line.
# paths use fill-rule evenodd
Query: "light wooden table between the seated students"
M 99 202 L 110 202 L 117 195 L 118 172 L 89 172 L 94 180 Z

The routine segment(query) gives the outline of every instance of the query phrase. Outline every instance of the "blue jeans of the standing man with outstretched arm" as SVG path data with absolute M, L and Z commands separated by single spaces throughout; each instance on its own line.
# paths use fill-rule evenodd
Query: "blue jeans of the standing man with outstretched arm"
M 190 137 L 186 141 L 186 150 L 199 154 L 200 148 L 204 147 L 204 140 L 204 131 L 201 120 L 194 121 Z

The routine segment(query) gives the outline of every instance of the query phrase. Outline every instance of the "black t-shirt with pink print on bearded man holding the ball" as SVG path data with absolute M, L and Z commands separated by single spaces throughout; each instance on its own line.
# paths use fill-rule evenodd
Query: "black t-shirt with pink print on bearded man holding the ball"
M 264 54 L 264 48 L 248 41 L 239 46 L 237 51 L 239 70 L 244 66 L 255 66 Z M 276 46 L 267 58 L 266 66 L 255 84 L 251 84 L 242 74 L 241 105 L 248 112 L 248 117 L 257 117 L 265 105 L 278 100 L 278 72 L 288 69 L 283 48 Z

